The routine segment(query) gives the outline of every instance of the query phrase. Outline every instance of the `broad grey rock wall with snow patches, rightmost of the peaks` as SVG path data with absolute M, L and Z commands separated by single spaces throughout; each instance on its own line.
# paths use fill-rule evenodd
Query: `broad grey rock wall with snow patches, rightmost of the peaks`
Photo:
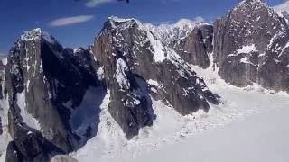
M 288 25 L 260 0 L 244 0 L 214 23 L 214 57 L 228 83 L 289 91 Z

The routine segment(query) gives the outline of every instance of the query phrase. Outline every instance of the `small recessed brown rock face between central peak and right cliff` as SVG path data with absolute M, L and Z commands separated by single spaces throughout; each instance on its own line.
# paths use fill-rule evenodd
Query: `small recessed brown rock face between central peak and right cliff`
M 210 67 L 212 40 L 213 27 L 209 24 L 199 24 L 188 36 L 172 41 L 170 46 L 189 64 L 207 68 Z

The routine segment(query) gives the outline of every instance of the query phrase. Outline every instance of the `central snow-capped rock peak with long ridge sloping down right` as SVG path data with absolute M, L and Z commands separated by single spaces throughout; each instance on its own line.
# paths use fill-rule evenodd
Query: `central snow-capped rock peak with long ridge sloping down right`
M 127 137 L 133 133 L 127 128 L 136 127 L 136 133 L 154 119 L 148 94 L 183 115 L 208 111 L 207 101 L 218 103 L 183 59 L 135 19 L 111 17 L 95 40 L 94 53 L 112 92 L 109 112 Z

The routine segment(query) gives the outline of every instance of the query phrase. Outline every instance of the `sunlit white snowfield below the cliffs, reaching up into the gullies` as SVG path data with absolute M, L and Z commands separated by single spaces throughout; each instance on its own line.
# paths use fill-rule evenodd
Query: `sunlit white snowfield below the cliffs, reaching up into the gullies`
M 208 114 L 182 117 L 154 101 L 153 127 L 127 141 L 102 104 L 98 136 L 70 156 L 79 161 L 288 161 L 289 95 L 274 94 L 258 85 L 238 88 L 224 83 L 210 67 L 192 67 L 203 76 L 223 104 Z

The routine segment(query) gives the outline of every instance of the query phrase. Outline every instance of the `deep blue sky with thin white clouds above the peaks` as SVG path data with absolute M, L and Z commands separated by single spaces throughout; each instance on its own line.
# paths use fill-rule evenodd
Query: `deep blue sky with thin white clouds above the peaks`
M 0 54 L 23 33 L 42 28 L 65 47 L 91 44 L 110 15 L 147 23 L 174 23 L 201 16 L 213 22 L 240 0 L 0 0 Z M 270 5 L 282 0 L 266 0 Z M 72 17 L 72 18 L 71 18 Z

